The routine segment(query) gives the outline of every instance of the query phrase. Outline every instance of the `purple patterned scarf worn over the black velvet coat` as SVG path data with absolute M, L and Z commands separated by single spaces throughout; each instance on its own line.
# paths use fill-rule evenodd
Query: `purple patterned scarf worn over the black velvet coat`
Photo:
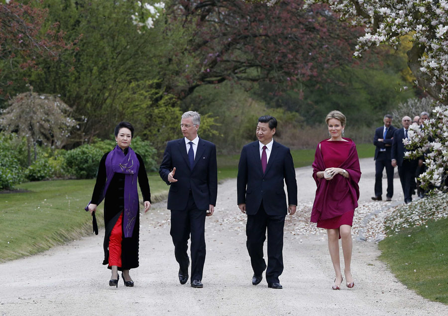
M 135 152 L 130 147 L 128 147 L 127 154 L 124 155 L 124 152 L 117 145 L 106 157 L 107 180 L 98 204 L 104 200 L 113 175 L 115 173 L 123 173 L 125 175 L 123 212 L 123 231 L 125 238 L 132 237 L 138 212 L 137 175 L 139 166 L 137 155 L 135 155 Z M 89 204 L 86 207 L 86 211 L 88 211 Z

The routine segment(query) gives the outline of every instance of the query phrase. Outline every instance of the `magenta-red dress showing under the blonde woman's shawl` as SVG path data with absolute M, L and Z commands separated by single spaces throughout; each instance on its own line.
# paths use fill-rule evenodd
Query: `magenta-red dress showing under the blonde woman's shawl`
M 321 151 L 326 168 L 338 168 L 348 157 L 351 142 L 344 140 L 323 141 Z M 317 226 L 326 229 L 338 229 L 340 225 L 353 224 L 354 210 L 346 210 L 342 215 L 318 220 Z M 339 236 L 340 238 L 340 236 Z

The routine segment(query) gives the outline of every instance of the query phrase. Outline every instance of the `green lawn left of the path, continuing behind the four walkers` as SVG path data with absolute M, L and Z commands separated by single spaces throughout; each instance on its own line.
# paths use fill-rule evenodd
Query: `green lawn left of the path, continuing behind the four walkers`
M 357 147 L 360 157 L 373 156 L 373 145 Z M 291 154 L 296 167 L 309 166 L 314 160 L 314 149 L 292 150 Z M 239 154 L 219 155 L 217 159 L 218 180 L 235 178 Z M 151 200 L 166 198 L 168 186 L 158 173 L 150 173 L 148 178 Z M 91 217 L 84 207 L 94 186 L 95 180 L 39 181 L 17 186 L 28 192 L 0 194 L 0 262 L 36 254 L 92 233 Z M 102 204 L 97 220 L 102 226 Z

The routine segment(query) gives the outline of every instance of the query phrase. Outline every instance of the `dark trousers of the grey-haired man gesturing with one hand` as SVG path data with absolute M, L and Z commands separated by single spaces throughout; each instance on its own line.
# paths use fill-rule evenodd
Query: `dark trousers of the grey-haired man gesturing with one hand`
M 202 280 L 204 270 L 206 243 L 205 218 L 207 210 L 196 207 L 190 192 L 187 208 L 182 211 L 171 210 L 170 235 L 173 238 L 174 255 L 182 271 L 188 271 L 189 258 L 187 254 L 188 239 L 191 235 L 191 280 Z

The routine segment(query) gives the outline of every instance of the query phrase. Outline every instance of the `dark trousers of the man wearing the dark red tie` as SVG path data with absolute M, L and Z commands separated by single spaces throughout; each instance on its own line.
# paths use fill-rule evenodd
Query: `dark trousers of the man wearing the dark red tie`
M 286 215 L 268 215 L 261 203 L 260 209 L 254 215 L 247 214 L 246 224 L 246 246 L 250 256 L 250 263 L 254 274 L 261 275 L 266 269 L 263 258 L 263 244 L 266 240 L 267 229 L 267 252 L 268 264 L 266 270 L 266 281 L 268 283 L 279 283 L 278 277 L 283 272 L 283 227 Z

